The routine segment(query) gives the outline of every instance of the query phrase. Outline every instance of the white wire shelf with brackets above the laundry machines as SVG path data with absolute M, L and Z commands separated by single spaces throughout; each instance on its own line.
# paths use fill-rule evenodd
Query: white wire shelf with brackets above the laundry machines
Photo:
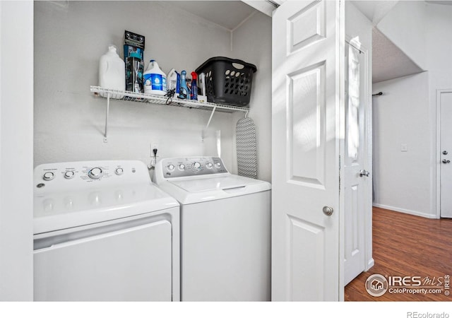
M 108 129 L 108 114 L 109 114 L 109 104 L 112 96 L 122 95 L 122 98 L 115 100 L 125 100 L 128 102 L 147 102 L 149 104 L 157 104 L 157 105 L 166 105 L 166 106 L 177 106 L 177 107 L 186 107 L 186 108 L 194 108 L 197 110 L 210 110 L 212 113 L 210 114 L 210 118 L 206 125 L 206 129 L 208 128 L 210 121 L 212 120 L 213 114 L 215 110 L 218 112 L 245 112 L 245 117 L 248 115 L 249 107 L 239 107 L 232 105 L 222 105 L 215 104 L 213 102 L 198 102 L 197 100 L 181 100 L 179 98 L 167 98 L 166 96 L 159 95 L 151 95 L 151 94 L 143 94 L 143 93 L 133 93 L 126 90 L 110 90 L 107 88 L 102 88 L 100 86 L 91 86 L 91 93 L 94 93 L 95 96 L 105 96 L 107 99 L 107 111 L 105 114 L 105 134 L 104 134 L 104 142 L 107 142 L 107 129 Z M 102 94 L 102 95 L 101 95 Z

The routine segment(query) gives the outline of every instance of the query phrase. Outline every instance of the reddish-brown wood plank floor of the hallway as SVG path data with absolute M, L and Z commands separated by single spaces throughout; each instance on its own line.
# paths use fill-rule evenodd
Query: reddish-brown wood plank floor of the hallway
M 452 219 L 429 219 L 374 208 L 375 265 L 345 286 L 345 301 L 452 301 L 452 295 L 388 293 L 369 295 L 365 282 L 371 274 L 383 276 L 452 276 Z M 451 284 L 452 293 L 452 284 Z

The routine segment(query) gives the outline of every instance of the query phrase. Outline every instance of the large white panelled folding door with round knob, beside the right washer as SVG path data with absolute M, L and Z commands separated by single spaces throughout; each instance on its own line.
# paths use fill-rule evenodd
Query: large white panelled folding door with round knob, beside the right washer
M 343 300 L 343 22 L 339 1 L 287 1 L 273 15 L 276 301 Z

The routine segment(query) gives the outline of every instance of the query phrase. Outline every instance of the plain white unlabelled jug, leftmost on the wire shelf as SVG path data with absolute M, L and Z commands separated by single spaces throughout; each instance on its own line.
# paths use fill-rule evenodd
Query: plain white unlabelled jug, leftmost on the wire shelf
M 123 59 L 117 54 L 114 45 L 109 45 L 108 52 L 100 57 L 99 63 L 99 86 L 112 90 L 126 89 L 126 65 Z M 101 93 L 102 97 L 107 97 L 107 93 Z M 110 98 L 121 99 L 124 95 L 111 94 Z

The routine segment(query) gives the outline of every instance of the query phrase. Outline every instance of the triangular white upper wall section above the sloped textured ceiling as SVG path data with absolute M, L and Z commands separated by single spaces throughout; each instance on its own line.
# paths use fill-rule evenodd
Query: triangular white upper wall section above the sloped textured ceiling
M 424 1 L 398 1 L 391 11 L 376 25 L 412 61 L 427 70 Z

